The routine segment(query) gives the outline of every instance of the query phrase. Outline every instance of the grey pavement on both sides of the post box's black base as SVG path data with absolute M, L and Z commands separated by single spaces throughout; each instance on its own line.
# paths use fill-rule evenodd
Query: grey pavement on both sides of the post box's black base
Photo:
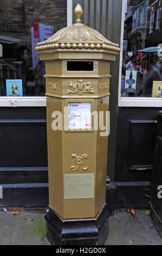
M 133 217 L 124 209 L 116 209 L 109 217 L 106 245 L 162 245 L 151 216 L 137 210 Z M 0 212 L 0 245 L 49 245 L 46 240 L 46 212 Z

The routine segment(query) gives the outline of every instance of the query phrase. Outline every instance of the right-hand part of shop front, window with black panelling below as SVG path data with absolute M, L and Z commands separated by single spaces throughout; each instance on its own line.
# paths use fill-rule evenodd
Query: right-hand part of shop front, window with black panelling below
M 148 207 L 157 118 L 162 107 L 162 3 L 146 0 L 123 4 L 115 204 Z

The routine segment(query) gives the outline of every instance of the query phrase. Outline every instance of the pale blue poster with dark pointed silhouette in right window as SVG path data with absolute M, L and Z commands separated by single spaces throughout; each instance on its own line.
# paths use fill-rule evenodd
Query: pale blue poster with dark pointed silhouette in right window
M 125 92 L 135 93 L 137 70 L 126 70 Z

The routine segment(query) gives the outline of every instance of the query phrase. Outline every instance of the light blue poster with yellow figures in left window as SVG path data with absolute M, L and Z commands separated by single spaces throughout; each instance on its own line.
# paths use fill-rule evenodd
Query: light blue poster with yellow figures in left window
M 7 96 L 23 96 L 22 80 L 6 80 L 6 93 Z

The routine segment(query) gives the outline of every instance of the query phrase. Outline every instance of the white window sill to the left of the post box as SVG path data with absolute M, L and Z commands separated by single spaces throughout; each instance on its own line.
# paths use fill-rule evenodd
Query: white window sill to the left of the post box
M 46 107 L 46 97 L 0 97 L 0 107 Z

